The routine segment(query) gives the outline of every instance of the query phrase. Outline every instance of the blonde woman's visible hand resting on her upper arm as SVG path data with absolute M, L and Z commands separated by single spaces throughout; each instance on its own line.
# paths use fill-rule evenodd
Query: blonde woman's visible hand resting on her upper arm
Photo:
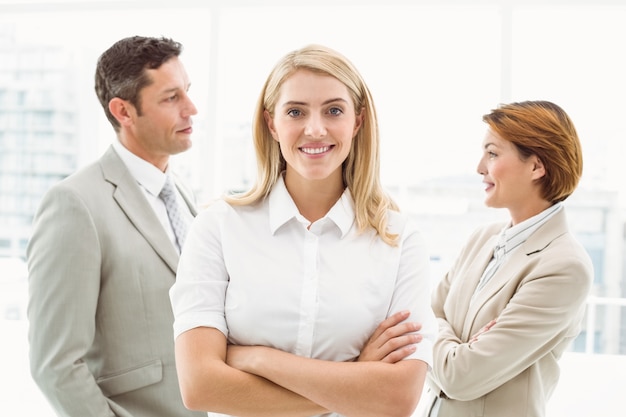
M 409 315 L 409 311 L 401 311 L 383 320 L 363 347 L 357 362 L 396 363 L 415 352 L 415 344 L 422 341 L 422 336 L 415 332 L 422 325 L 404 322 Z

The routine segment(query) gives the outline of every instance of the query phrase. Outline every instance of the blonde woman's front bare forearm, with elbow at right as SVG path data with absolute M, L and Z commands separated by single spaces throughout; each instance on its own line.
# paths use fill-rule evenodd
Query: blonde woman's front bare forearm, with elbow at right
M 427 365 L 420 360 L 332 362 L 264 346 L 233 346 L 228 363 L 346 416 L 410 416 Z

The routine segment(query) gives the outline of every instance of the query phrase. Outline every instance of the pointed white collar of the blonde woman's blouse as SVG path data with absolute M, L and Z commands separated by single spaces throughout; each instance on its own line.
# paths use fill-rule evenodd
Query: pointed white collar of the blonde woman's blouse
M 296 207 L 296 203 L 294 203 L 291 195 L 289 195 L 289 191 L 287 191 L 283 175 L 278 178 L 269 195 L 269 217 L 272 234 L 276 233 L 282 225 L 294 218 L 298 221 L 306 222 L 298 211 L 298 207 Z M 354 200 L 350 191 L 346 188 L 341 198 L 324 216 L 324 219 L 332 221 L 341 230 L 341 237 L 343 238 L 352 227 L 354 217 Z M 318 221 L 321 220 L 323 219 Z

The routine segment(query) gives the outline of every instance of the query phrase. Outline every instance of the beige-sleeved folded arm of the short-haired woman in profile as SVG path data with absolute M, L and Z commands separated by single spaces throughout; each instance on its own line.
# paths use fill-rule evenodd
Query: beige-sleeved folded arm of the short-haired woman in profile
M 575 259 L 551 262 L 554 272 L 528 279 L 497 320 L 468 340 L 440 316 L 433 375 L 450 398 L 468 401 L 486 395 L 575 336 L 587 274 Z

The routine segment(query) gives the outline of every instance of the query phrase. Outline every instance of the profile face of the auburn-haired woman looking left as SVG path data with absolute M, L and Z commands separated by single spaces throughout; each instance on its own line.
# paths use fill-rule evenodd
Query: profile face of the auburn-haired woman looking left
M 522 160 L 515 145 L 491 129 L 487 130 L 483 140 L 483 154 L 477 171 L 486 185 L 485 204 L 509 209 L 515 223 L 543 209 L 545 201 L 536 181 L 545 174 L 543 164 L 535 155 Z

